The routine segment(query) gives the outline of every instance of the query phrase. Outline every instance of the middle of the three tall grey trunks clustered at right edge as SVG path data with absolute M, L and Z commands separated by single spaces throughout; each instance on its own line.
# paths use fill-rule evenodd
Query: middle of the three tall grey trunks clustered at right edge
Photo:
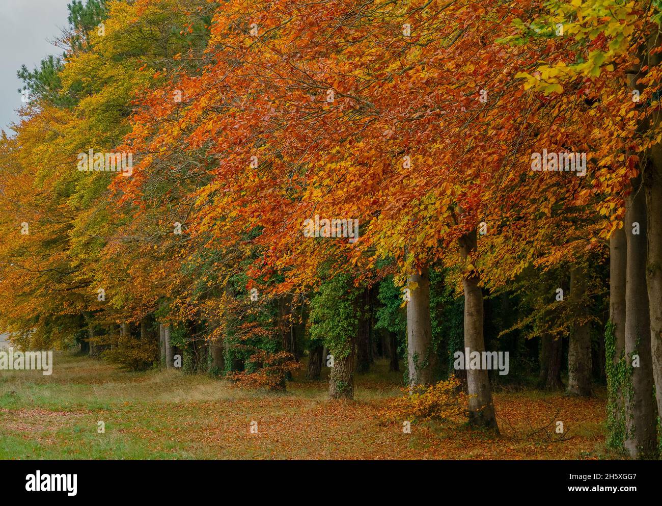
M 653 458 L 657 448 L 657 407 L 653 397 L 651 326 L 646 285 L 646 203 L 641 185 L 634 182 L 628 197 L 625 353 L 632 372 L 632 389 L 625 396 L 625 447 L 632 458 Z M 633 225 L 639 234 L 633 233 Z M 638 357 L 639 366 L 632 367 Z

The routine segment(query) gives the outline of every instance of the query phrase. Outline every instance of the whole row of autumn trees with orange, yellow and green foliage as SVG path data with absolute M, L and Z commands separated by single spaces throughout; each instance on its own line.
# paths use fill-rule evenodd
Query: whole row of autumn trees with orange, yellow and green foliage
M 376 355 L 425 385 L 498 348 L 575 395 L 604 374 L 610 442 L 655 456 L 660 16 L 73 1 L 0 145 L 2 330 L 277 388 L 307 350 L 331 397 Z M 455 372 L 498 430 L 489 372 Z

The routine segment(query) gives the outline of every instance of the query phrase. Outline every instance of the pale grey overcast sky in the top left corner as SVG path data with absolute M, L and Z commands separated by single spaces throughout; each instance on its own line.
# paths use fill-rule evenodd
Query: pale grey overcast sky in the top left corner
M 67 25 L 71 0 L 0 0 L 0 128 L 9 130 L 22 105 L 16 72 L 32 70 L 49 54 L 62 54 L 50 42 Z M 12 133 L 12 132 L 7 132 Z

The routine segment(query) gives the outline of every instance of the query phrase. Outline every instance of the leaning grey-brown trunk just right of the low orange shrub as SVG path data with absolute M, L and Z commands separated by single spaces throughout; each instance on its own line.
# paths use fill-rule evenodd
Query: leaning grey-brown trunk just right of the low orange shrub
M 459 240 L 460 253 L 467 260 L 476 249 L 476 231 L 464 234 Z M 473 272 L 462 279 L 464 288 L 464 346 L 469 352 L 485 351 L 483 338 L 483 291 L 478 285 L 479 276 Z M 487 370 L 467 370 L 469 395 L 469 421 L 479 427 L 489 427 L 498 432 L 495 406 Z

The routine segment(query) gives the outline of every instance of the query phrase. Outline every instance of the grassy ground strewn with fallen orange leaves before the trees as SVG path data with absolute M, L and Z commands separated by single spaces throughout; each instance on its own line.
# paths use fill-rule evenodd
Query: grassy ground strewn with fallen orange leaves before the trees
M 389 373 L 388 362 L 357 376 L 354 401 L 330 401 L 326 381 L 304 377 L 302 369 L 286 393 L 269 393 L 175 370 L 124 372 L 58 353 L 51 376 L 0 372 L 0 458 L 614 458 L 604 450 L 604 392 L 579 399 L 496 391 L 500 436 L 430 423 L 405 434 L 378 415 L 388 397 L 402 395 L 402 374 Z M 563 434 L 555 433 L 556 421 Z

